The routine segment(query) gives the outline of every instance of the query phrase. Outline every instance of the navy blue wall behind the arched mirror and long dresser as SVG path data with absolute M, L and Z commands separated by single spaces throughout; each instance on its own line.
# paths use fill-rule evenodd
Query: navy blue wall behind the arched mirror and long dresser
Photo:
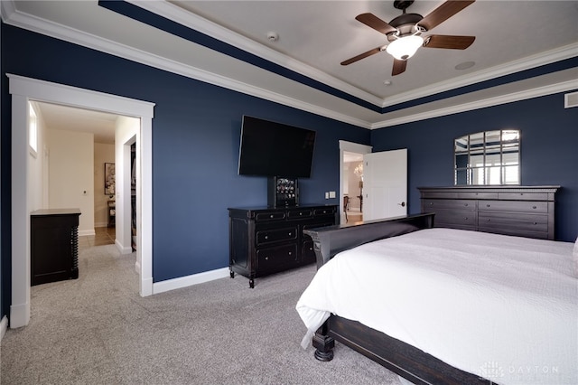
M 453 139 L 493 129 L 521 130 L 524 185 L 561 185 L 556 194 L 556 239 L 578 235 L 578 108 L 564 94 L 436 117 L 371 133 L 373 151 L 407 148 L 408 212 L 420 211 L 422 186 L 453 184 Z

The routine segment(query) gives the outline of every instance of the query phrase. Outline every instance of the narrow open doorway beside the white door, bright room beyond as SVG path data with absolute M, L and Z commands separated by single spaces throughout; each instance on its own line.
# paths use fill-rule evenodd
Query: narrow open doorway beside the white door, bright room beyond
M 363 221 L 363 155 L 371 146 L 340 140 L 340 223 Z

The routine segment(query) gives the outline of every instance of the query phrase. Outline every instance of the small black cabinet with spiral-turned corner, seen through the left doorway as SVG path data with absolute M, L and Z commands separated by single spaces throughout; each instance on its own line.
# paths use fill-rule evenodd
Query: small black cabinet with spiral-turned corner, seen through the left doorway
M 79 277 L 79 209 L 30 215 L 31 286 Z

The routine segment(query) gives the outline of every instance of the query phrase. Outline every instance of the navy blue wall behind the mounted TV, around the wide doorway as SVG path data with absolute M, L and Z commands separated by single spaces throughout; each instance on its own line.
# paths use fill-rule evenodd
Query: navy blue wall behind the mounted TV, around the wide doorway
M 301 203 L 339 204 L 339 140 L 370 133 L 263 99 L 2 25 L 2 256 L 10 272 L 10 97 L 5 73 L 156 104 L 153 120 L 154 282 L 228 267 L 228 207 L 266 205 L 266 178 L 239 176 L 244 114 L 317 131 L 312 177 Z M 8 268 L 5 268 L 8 266 Z M 8 296 L 9 274 L 2 293 Z M 8 300 L 5 304 L 9 304 Z M 7 307 L 8 305 L 5 305 Z M 6 314 L 6 310 L 4 310 Z

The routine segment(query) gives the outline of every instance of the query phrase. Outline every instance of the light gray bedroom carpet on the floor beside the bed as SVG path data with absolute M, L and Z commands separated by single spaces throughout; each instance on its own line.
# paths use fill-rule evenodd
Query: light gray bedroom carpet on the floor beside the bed
M 399 384 L 339 343 L 332 362 L 301 348 L 294 306 L 314 266 L 145 298 L 135 254 L 113 245 L 82 249 L 79 272 L 32 287 L 30 324 L 2 340 L 2 384 Z

